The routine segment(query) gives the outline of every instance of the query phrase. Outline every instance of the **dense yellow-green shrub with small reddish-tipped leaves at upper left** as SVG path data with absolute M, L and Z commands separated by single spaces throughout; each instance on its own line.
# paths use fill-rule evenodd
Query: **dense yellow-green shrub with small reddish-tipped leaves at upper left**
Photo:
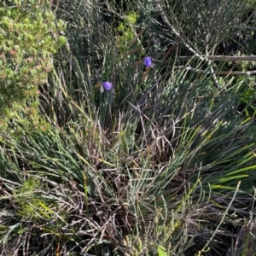
M 65 38 L 47 1 L 0 3 L 0 117 L 25 107 L 37 96 L 53 67 L 53 55 Z

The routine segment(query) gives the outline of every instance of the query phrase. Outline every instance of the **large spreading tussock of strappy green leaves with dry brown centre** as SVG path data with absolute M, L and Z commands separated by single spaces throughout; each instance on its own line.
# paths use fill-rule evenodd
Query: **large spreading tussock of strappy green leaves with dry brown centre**
M 44 132 L 30 132 L 17 142 L 9 140 L 5 143 L 7 152 L 8 148 L 17 148 L 12 154 L 7 154 L 20 160 L 16 169 L 20 165 L 25 166 L 27 175 L 38 173 L 39 179 L 54 186 L 55 189 L 47 190 L 47 196 L 60 205 L 56 209 L 67 206 L 64 208 L 70 224 L 76 223 L 77 219 L 77 234 L 74 236 L 80 246 L 88 251 L 99 250 L 102 243 L 108 245 L 108 250 L 113 250 L 111 238 L 115 243 L 118 242 L 117 248 L 121 252 L 132 252 L 137 241 L 143 239 L 148 241 L 148 253 L 151 250 L 156 252 L 158 244 L 168 248 L 170 241 L 176 243 L 176 240 L 172 240 L 173 226 L 179 223 L 185 225 L 189 221 L 186 227 L 189 237 L 189 234 L 194 234 L 193 226 L 197 226 L 197 222 L 201 223 L 200 218 L 208 221 L 214 219 L 215 222 L 212 226 L 200 224 L 201 229 L 209 233 L 204 238 L 207 241 L 212 228 L 222 221 L 223 216 L 217 212 L 230 204 L 236 180 L 242 179 L 241 191 L 250 192 L 253 189 L 248 186 L 253 183 L 250 174 L 254 158 L 250 153 L 253 149 L 253 137 L 250 134 L 253 125 L 242 114 L 230 112 L 236 105 L 236 94 L 232 94 L 231 90 L 218 91 L 204 79 L 191 87 L 190 83 L 183 80 L 186 73 L 178 71 L 175 73 L 175 84 L 173 78 L 172 81 L 163 78 L 165 86 L 150 86 L 154 81 L 152 70 L 147 82 L 143 82 L 141 87 L 133 88 L 128 84 L 131 96 L 125 101 L 125 92 L 118 87 L 114 95 L 113 91 L 101 92 L 92 87 L 90 77 L 88 74 L 84 77 L 76 59 L 73 59 L 73 68 L 76 68 L 75 78 L 84 81 L 76 91 L 68 86 L 69 83 L 62 84 L 58 74 L 53 73 L 52 81 L 58 83 L 55 88 L 58 88 L 59 96 L 55 98 L 56 103 L 52 102 L 52 112 L 44 108 L 53 128 Z M 143 76 L 143 70 L 140 71 L 139 67 L 131 68 L 130 73 L 127 73 L 126 67 L 119 68 L 126 69 L 128 77 L 124 81 L 131 81 L 131 84 L 135 73 L 141 72 L 140 76 Z M 137 80 L 140 81 L 139 77 Z M 117 82 L 115 86 L 124 84 Z M 53 93 L 50 90 L 55 89 L 46 89 L 45 95 Z M 134 90 L 137 90 L 137 94 Z M 85 98 L 81 91 L 88 96 Z M 88 101 L 87 104 L 84 100 Z M 63 110 L 58 107 L 59 101 L 62 102 Z M 119 112 L 116 111 L 117 106 Z M 205 113 L 201 110 L 204 108 L 207 108 Z M 230 143 L 232 135 L 233 144 Z M 234 164 L 236 159 L 237 163 Z M 2 161 L 8 162 L 7 159 Z M 7 175 L 11 177 L 9 172 Z M 180 177 L 186 177 L 183 183 Z M 196 185 L 198 177 L 201 186 Z M 193 183 L 195 187 L 189 192 L 189 184 Z M 71 192 L 73 189 L 77 191 L 75 194 Z M 194 200 L 202 189 L 211 198 L 207 201 L 211 202 L 212 213 L 208 212 L 209 208 L 203 207 L 206 201 L 199 201 L 195 210 Z M 61 201 L 55 196 L 57 191 Z M 216 191 L 214 196 L 211 191 Z M 230 195 L 226 194 L 227 191 L 230 191 Z M 41 196 L 46 196 L 44 189 L 41 193 Z M 188 201 L 187 205 L 185 198 L 194 200 Z M 98 205 L 102 201 L 104 207 Z M 84 205 L 82 212 L 77 208 L 79 202 Z M 230 207 L 230 211 L 233 207 Z M 239 201 L 236 207 L 242 207 Z M 207 211 L 207 218 L 204 211 Z M 106 225 L 106 219 L 112 223 L 112 214 L 116 218 L 114 225 L 124 225 L 124 228 Z M 192 217 L 188 214 L 192 214 Z M 98 236 L 93 240 L 90 240 L 90 234 L 82 238 L 82 234 L 87 234 L 85 230 L 99 227 L 96 220 L 90 223 L 93 218 L 102 223 L 100 230 L 104 231 L 98 230 Z M 150 221 L 154 223 L 157 218 L 160 219 L 155 220 L 159 228 L 148 231 L 146 238 L 143 238 L 142 234 L 147 234 L 144 233 L 145 225 Z M 232 216 L 227 218 L 232 219 Z M 79 225 L 82 220 L 84 225 Z M 67 233 L 73 232 L 74 227 L 70 224 L 63 222 L 61 229 L 64 228 Z M 170 240 L 166 241 L 168 236 L 160 235 L 162 232 L 170 234 Z M 181 234 L 178 233 L 178 236 Z M 118 239 L 120 236 L 124 236 L 121 241 Z M 154 241 L 152 244 L 149 242 L 151 239 Z M 133 241 L 135 244 L 131 246 Z M 69 244 L 70 241 L 64 239 L 63 243 Z M 182 253 L 185 247 L 177 244 L 176 247 L 172 246 L 171 252 Z

